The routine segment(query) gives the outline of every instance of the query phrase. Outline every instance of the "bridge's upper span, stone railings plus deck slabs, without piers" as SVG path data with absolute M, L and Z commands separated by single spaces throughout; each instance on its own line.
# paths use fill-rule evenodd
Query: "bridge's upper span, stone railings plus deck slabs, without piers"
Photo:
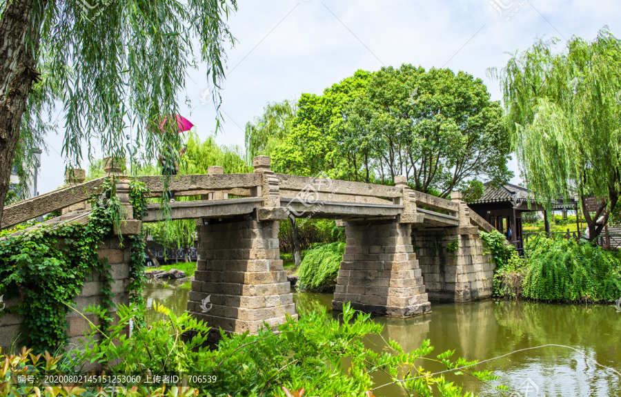
M 460 224 L 461 218 L 454 216 L 462 211 L 467 213 L 467 210 L 462 208 L 465 204 L 460 202 L 460 195 L 455 197 L 456 200 L 445 200 L 413 191 L 407 185 L 407 178 L 403 176 L 395 176 L 395 186 L 386 186 L 331 180 L 327 175 L 320 178 L 273 173 L 270 170 L 270 159 L 265 156 L 253 159 L 253 166 L 255 167 L 253 173 L 246 174 L 224 174 L 223 168 L 214 166 L 204 175 L 175 175 L 170 178 L 168 184 L 165 184 L 160 176 L 135 177 L 150 189 L 150 197 L 161 197 L 164 190 L 170 190 L 179 196 L 191 195 L 212 199 L 174 202 L 170 203 L 168 209 L 162 208 L 161 204 L 148 204 L 144 222 L 168 219 L 217 219 L 239 215 L 250 215 L 259 221 L 267 221 L 286 220 L 293 215 L 299 218 L 334 220 L 397 219 L 402 224 L 416 224 L 417 229 L 464 226 Z M 112 172 L 112 168 L 108 172 Z M 128 200 L 128 182 L 131 177 L 127 175 L 117 177 L 121 181 L 117 184 L 119 197 Z M 104 180 L 105 177 L 101 177 L 86 183 L 72 184 L 6 206 L 0 229 L 52 211 L 62 210 L 63 213 L 75 211 L 77 209 L 75 204 L 85 202 L 92 195 L 100 193 L 99 189 Z M 230 195 L 244 198 L 226 198 Z M 224 200 L 213 200 L 214 198 Z M 121 204 L 125 208 L 130 206 L 129 202 Z M 170 213 L 164 213 L 168 211 Z M 130 220 L 131 217 L 128 221 Z M 139 221 L 131 221 L 134 225 L 132 227 L 137 227 L 138 230 Z M 469 211 L 469 221 L 468 224 L 480 229 L 493 230 L 493 226 L 473 211 Z

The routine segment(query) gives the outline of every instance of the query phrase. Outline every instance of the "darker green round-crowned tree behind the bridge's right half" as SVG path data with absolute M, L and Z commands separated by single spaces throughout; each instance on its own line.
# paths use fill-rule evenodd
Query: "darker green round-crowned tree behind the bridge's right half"
M 513 176 L 500 102 L 466 72 L 382 68 L 354 114 L 353 124 L 372 134 L 380 172 L 405 175 L 417 191 L 446 197 L 471 180 L 502 184 Z

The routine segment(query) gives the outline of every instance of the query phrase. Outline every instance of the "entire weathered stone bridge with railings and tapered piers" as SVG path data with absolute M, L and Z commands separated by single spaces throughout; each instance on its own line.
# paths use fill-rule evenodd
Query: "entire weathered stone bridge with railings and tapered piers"
M 409 188 L 405 177 L 384 186 L 279 174 L 266 156 L 255 157 L 253 166 L 248 174 L 224 174 L 213 166 L 206 175 L 177 175 L 169 182 L 177 196 L 201 197 L 170 203 L 170 216 L 197 222 L 200 260 L 188 311 L 215 329 L 255 332 L 264 321 L 276 325 L 286 315 L 296 316 L 279 258 L 279 221 L 288 217 L 334 219 L 345 226 L 333 300 L 337 311 L 351 302 L 360 311 L 408 317 L 431 311 L 430 299 L 491 296 L 493 264 L 477 231 L 493 228 L 469 210 L 461 193 L 450 201 L 426 195 Z M 127 215 L 128 177 L 111 166 L 106 171 L 120 176 L 117 194 L 127 209 L 121 233 L 139 233 L 140 221 Z M 161 197 L 161 177 L 138 179 L 152 197 Z M 77 170 L 65 188 L 7 206 L 1 228 L 59 210 L 63 215 L 49 223 L 86 222 L 86 200 L 103 178 L 83 180 Z M 149 204 L 143 222 L 160 218 L 159 204 Z M 123 250 L 115 239 L 100 244 L 100 255 L 110 263 L 127 262 Z M 208 297 L 207 307 L 202 302 Z

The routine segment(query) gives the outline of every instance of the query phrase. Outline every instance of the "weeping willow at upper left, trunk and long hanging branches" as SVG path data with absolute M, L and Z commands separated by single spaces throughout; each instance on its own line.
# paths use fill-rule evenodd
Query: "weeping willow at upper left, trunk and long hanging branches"
M 71 166 L 104 155 L 152 157 L 179 144 L 177 95 L 186 70 L 207 64 L 224 79 L 226 19 L 236 0 L 0 1 L 0 218 L 14 153 L 31 159 L 51 128 L 42 115 L 62 104 L 62 154 Z M 170 133 L 161 133 L 164 130 Z M 131 133 L 129 133 L 131 131 Z

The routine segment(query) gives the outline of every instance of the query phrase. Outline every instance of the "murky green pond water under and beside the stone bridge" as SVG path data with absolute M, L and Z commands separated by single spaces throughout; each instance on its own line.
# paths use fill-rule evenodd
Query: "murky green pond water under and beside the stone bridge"
M 189 283 L 159 282 L 146 284 L 148 304 L 163 303 L 176 313 L 186 309 L 190 292 Z M 331 313 L 332 294 L 294 293 L 300 311 L 328 308 Z M 382 338 L 391 338 L 406 351 L 420 347 L 423 340 L 431 340 L 434 353 L 455 350 L 455 357 L 467 360 L 487 360 L 509 354 L 519 349 L 542 345 L 568 345 L 596 360 L 601 365 L 621 372 L 621 313 L 609 305 L 575 306 L 535 302 L 509 302 L 484 300 L 467 304 L 431 304 L 432 313 L 413 318 L 373 318 L 384 325 L 381 336 L 371 336 L 368 347 L 377 351 L 384 348 Z M 148 320 L 159 318 L 148 311 Z M 337 317 L 334 315 L 335 318 Z M 494 385 L 512 387 L 517 396 L 621 396 L 621 378 L 612 371 L 598 367 L 595 362 L 577 351 L 561 347 L 544 347 L 521 351 L 505 358 L 485 362 L 477 370 L 489 369 L 500 376 Z M 421 361 L 429 371 L 442 371 L 439 365 Z M 531 379 L 538 394 L 531 386 L 526 395 L 525 387 Z M 451 378 L 463 383 L 464 389 L 480 396 L 501 396 L 497 391 L 482 385 L 474 378 Z M 377 385 L 388 383 L 377 376 Z M 510 394 L 506 392 L 509 396 Z M 376 396 L 406 396 L 399 387 L 378 389 Z

